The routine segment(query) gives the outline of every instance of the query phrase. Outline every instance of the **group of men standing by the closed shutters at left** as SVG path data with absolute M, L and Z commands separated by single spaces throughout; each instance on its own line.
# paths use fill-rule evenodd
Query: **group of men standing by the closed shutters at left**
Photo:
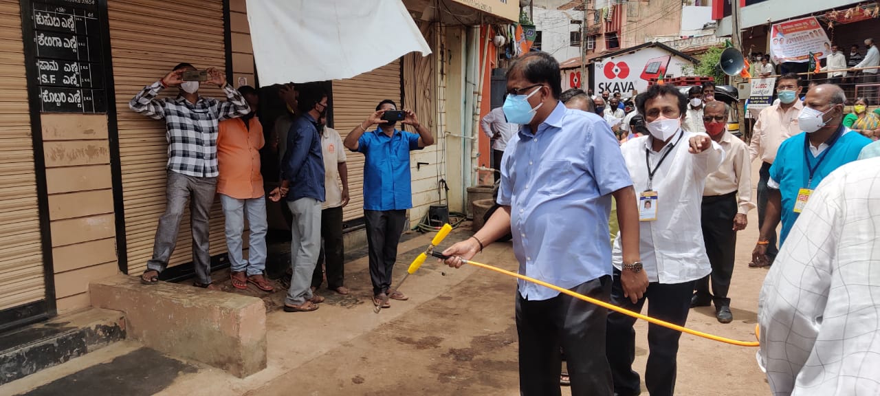
M 312 312 L 325 300 L 315 293 L 326 278 L 327 289 L 346 295 L 342 208 L 349 202 L 345 150 L 363 153 L 364 217 L 369 242 L 373 303 L 408 297 L 390 290 L 397 246 L 412 207 L 409 151 L 434 143 L 428 128 L 412 111 L 400 120 L 384 117 L 397 112 L 392 100 L 378 103 L 376 112 L 348 133 L 326 126 L 327 93 L 320 84 L 277 87 L 287 111 L 275 120 L 272 147 L 280 158 L 281 186 L 266 193 L 260 150 L 266 135 L 257 117 L 260 95 L 250 86 L 238 90 L 218 70 L 208 69 L 206 84 L 226 94 L 220 101 L 199 94 L 202 82 L 185 80 L 196 68 L 180 63 L 165 77 L 146 86 L 129 107 L 136 113 L 165 121 L 168 141 L 165 213 L 159 218 L 152 258 L 141 275 L 156 284 L 168 266 L 177 243 L 180 221 L 189 204 L 193 234 L 194 285 L 216 289 L 210 274 L 210 208 L 219 194 L 225 216 L 226 245 L 231 261 L 231 285 L 263 291 L 275 286 L 266 278 L 267 199 L 284 200 L 291 232 L 289 285 L 284 311 Z M 197 76 L 198 73 L 195 73 Z M 176 97 L 159 97 L 176 88 Z M 366 115 L 366 114 L 365 114 Z M 395 128 L 396 122 L 416 133 Z M 388 194 L 387 192 L 393 192 Z M 247 258 L 243 254 L 245 224 L 250 230 Z

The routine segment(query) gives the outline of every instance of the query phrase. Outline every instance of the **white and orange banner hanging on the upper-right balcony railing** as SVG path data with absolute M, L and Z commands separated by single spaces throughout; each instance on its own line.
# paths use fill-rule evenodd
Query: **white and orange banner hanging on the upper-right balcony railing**
M 770 55 L 781 62 L 809 62 L 810 52 L 825 59 L 831 54 L 831 40 L 816 17 L 775 24 L 770 29 Z

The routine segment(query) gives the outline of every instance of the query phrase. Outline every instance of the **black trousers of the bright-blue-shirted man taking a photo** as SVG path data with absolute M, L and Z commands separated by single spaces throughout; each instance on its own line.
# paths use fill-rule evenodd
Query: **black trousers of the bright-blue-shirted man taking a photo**
M 397 244 L 407 222 L 406 210 L 364 210 L 370 256 L 373 296 L 391 288 L 392 269 L 397 260 Z

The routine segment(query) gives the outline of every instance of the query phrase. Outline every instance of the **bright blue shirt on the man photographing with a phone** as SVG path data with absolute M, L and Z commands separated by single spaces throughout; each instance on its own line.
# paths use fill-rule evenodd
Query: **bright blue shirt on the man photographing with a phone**
M 363 209 L 400 210 L 413 207 L 409 151 L 422 150 L 419 135 L 394 129 L 388 136 L 377 128 L 357 140 L 364 156 Z

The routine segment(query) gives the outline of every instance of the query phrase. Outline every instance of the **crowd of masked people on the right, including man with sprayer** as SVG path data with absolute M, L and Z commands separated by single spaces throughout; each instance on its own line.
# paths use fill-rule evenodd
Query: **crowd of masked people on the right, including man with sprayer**
M 760 71 L 771 75 L 767 62 Z M 866 351 L 880 352 L 871 341 L 878 329 L 870 327 L 877 319 L 871 297 L 880 297 L 876 282 L 868 286 L 873 289 L 858 291 L 858 304 L 847 304 L 847 291 L 840 290 L 869 282 L 876 254 L 868 241 L 880 226 L 865 197 L 873 185 L 847 181 L 877 175 L 835 172 L 859 167 L 847 165 L 858 159 L 865 161 L 862 168 L 870 167 L 868 161 L 876 160 L 866 158 L 880 156 L 880 143 L 871 143 L 876 118 L 865 99 L 855 99 L 854 113 L 847 115 L 839 85 L 814 84 L 802 95 L 801 78 L 782 75 L 775 87 L 779 101 L 760 112 L 745 143 L 727 130 L 730 106 L 715 100 L 711 83 L 686 92 L 669 84 L 650 86 L 634 95 L 630 111 L 605 92 L 595 97 L 576 89 L 560 92 L 558 65 L 543 53 L 519 58 L 507 77 L 502 111 L 519 128 L 495 165 L 501 172 L 502 210 L 473 238 L 446 249 L 447 264 L 459 267 L 460 259 L 469 260 L 513 231 L 521 274 L 634 312 L 649 301 L 650 317 L 682 326 L 690 308 L 714 304 L 716 319 L 730 323 L 737 231 L 748 226 L 747 214 L 757 207 L 759 238 L 749 267 L 772 266 L 761 297 L 759 363 L 774 394 L 809 386 L 827 391 L 810 394 L 877 391 L 876 372 L 859 372 L 856 363 Z M 758 158 L 755 200 L 751 166 Z M 609 243 L 612 199 L 620 230 Z M 862 213 L 851 214 L 848 205 Z M 801 216 L 810 218 L 798 221 Z M 840 230 L 862 234 L 850 242 Z M 860 243 L 868 246 L 858 246 L 858 253 L 835 253 Z M 832 276 L 856 262 L 846 279 Z M 787 274 L 789 267 L 797 267 L 797 276 Z M 848 301 L 855 292 L 849 290 Z M 798 295 L 802 298 L 793 303 L 791 297 Z M 832 302 L 832 296 L 844 301 Z M 844 332 L 845 318 L 833 319 L 830 333 L 824 333 L 825 304 L 854 315 L 849 318 L 859 321 L 855 331 L 861 333 Z M 575 395 L 642 391 L 632 368 L 635 319 L 520 282 L 516 320 L 522 394 L 559 394 L 561 375 Z M 679 336 L 649 325 L 644 375 L 652 395 L 674 392 Z M 857 347 L 842 346 L 850 336 L 857 336 Z M 832 346 L 820 345 L 823 341 Z M 820 352 L 838 358 L 823 366 Z M 559 369 L 563 356 L 567 373 Z M 802 369 L 811 375 L 799 376 Z

